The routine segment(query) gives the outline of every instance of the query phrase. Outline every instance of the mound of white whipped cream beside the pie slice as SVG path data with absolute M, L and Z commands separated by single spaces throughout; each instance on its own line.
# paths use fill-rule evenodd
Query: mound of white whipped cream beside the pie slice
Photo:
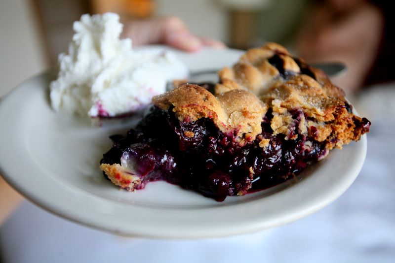
M 67 114 L 115 117 L 138 111 L 164 93 L 166 84 L 189 76 L 174 53 L 161 48 L 132 49 L 120 39 L 115 13 L 81 16 L 68 53 L 59 55 L 59 74 L 50 83 L 52 107 Z

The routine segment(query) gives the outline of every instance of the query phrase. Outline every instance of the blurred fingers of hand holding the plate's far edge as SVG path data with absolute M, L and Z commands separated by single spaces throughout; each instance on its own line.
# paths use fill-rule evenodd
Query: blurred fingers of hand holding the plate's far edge
M 192 34 L 185 23 L 174 16 L 128 21 L 124 23 L 122 37 L 131 38 L 133 46 L 165 44 L 188 52 L 203 46 L 226 47 L 221 41 Z

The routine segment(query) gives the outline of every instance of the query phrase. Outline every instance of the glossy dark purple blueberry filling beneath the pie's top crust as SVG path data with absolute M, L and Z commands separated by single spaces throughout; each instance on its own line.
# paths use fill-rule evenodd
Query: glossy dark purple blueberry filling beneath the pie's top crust
M 293 113 L 296 123 L 301 114 Z M 153 106 L 135 129 L 111 136 L 113 147 L 101 163 L 121 164 L 144 182 L 165 180 L 223 201 L 280 184 L 327 154 L 324 143 L 306 136 L 272 135 L 272 118 L 269 111 L 263 132 L 241 144 L 236 132 L 219 131 L 211 119 L 179 122 L 171 108 Z

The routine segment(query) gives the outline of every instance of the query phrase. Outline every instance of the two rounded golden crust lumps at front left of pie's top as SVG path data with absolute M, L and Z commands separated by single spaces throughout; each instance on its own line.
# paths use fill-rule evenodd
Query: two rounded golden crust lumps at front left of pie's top
M 214 96 L 206 89 L 185 84 L 154 97 L 160 109 L 169 109 L 179 121 L 210 118 L 221 132 L 235 132 L 241 140 L 252 140 L 262 132 L 261 123 L 268 105 L 247 90 L 231 90 Z

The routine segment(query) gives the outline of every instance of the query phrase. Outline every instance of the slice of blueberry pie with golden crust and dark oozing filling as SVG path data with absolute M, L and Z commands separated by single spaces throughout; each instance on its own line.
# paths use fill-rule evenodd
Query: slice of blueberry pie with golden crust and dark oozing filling
M 129 191 L 165 180 L 222 201 L 294 178 L 369 131 L 323 71 L 278 44 L 250 49 L 218 74 L 214 86 L 154 97 L 134 129 L 111 136 L 105 176 Z

